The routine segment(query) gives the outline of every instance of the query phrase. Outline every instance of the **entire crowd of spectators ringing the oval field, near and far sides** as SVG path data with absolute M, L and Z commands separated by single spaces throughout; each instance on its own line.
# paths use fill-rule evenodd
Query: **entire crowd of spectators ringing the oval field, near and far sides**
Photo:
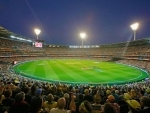
M 109 61 L 150 70 L 149 45 L 103 48 L 35 48 L 0 38 L 0 113 L 150 113 L 150 80 L 122 85 L 45 82 L 9 72 L 13 61 L 80 58 Z

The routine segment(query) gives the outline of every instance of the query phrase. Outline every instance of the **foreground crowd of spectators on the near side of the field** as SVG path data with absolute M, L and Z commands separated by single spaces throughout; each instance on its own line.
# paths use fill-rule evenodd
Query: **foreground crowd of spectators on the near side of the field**
M 150 80 L 122 85 L 45 82 L 0 75 L 0 113 L 149 113 Z

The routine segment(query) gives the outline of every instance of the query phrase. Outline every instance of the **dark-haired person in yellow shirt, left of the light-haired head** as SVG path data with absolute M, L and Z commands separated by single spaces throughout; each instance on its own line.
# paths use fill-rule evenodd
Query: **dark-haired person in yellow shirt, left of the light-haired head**
M 57 107 L 57 102 L 53 101 L 54 97 L 52 94 L 49 94 L 47 96 L 47 101 L 44 102 L 44 109 L 45 111 L 49 112 L 52 108 L 56 108 Z

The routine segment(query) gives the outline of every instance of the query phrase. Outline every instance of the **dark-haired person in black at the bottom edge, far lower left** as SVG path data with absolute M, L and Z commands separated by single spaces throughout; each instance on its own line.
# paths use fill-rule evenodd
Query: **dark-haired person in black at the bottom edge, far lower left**
M 29 113 L 30 105 L 24 101 L 25 94 L 20 92 L 15 96 L 15 103 L 10 106 L 8 113 Z

